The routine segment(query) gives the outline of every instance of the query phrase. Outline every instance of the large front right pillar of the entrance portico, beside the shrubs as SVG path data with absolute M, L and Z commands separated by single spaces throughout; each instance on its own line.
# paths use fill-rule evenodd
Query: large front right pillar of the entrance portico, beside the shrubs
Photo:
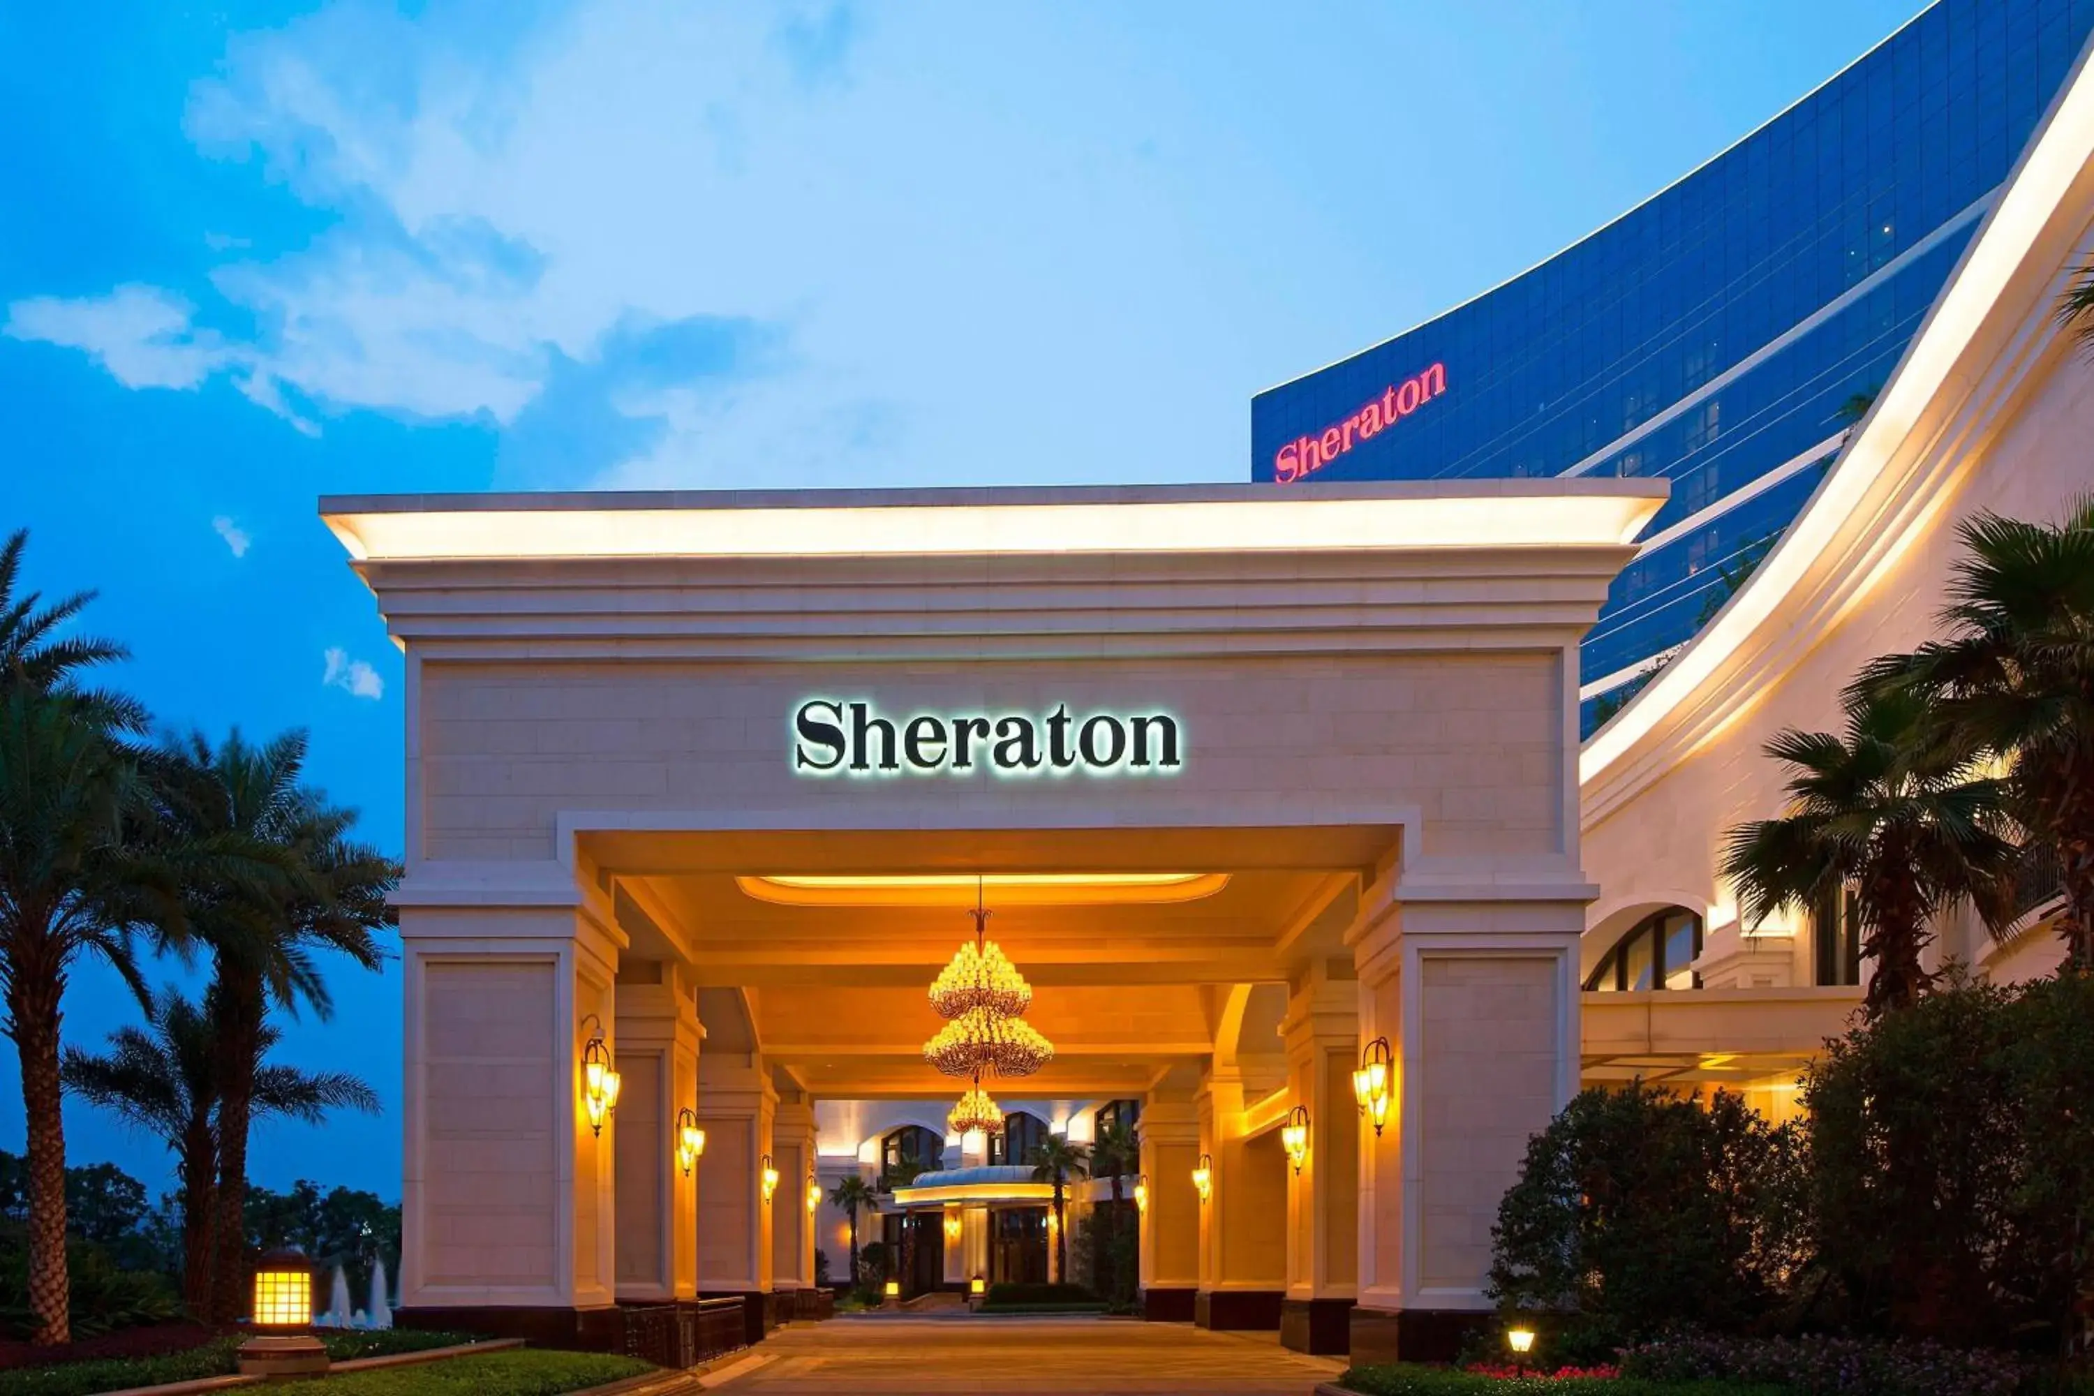
M 1577 1090 L 1591 892 L 1411 869 L 1361 898 L 1361 1032 L 1395 1049 L 1397 1101 L 1361 1141 L 1355 1363 L 1445 1360 L 1487 1321 L 1497 1203 Z

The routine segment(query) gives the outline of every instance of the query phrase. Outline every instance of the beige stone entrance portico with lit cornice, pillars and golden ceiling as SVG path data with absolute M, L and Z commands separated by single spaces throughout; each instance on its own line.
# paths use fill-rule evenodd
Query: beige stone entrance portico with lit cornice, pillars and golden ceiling
M 1483 1308 L 1497 1193 L 1577 1084 L 1575 645 L 1661 490 L 331 500 L 408 655 L 404 1306 L 812 1283 L 817 1109 L 949 1090 L 923 988 L 965 917 L 884 879 L 1049 875 L 1078 890 L 995 906 L 1057 1046 L 1005 1090 L 1143 1103 L 1152 1310 L 1330 1348 L 1355 1306 Z M 810 701 L 865 770 L 810 772 Z M 1034 764 L 988 760 L 1005 720 Z

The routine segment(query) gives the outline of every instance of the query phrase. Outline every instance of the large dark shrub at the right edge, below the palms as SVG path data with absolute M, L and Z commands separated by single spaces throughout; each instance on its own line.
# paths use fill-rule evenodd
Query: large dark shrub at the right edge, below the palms
M 1809 1109 L 1822 1321 L 2058 1350 L 2094 1283 L 2094 984 L 1952 982 L 1826 1046 Z

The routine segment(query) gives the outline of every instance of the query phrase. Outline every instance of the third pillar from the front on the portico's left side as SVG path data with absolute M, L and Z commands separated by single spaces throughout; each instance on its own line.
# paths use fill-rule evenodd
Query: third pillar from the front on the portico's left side
M 771 1203 L 762 1193 L 762 1157 L 771 1153 L 775 1107 L 777 1090 L 760 1053 L 708 1051 L 699 1057 L 697 1124 L 706 1130 L 706 1155 L 697 1166 L 697 1291 L 741 1296 L 750 1342 L 762 1342 L 771 1327 Z

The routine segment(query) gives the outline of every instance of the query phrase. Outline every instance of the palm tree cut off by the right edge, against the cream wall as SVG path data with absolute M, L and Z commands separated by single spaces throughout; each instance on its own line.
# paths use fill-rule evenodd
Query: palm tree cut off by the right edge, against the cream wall
M 2094 280 L 2079 291 L 2094 306 Z M 1870 666 L 1914 693 L 1937 739 L 2006 770 L 2031 873 L 2063 883 L 2069 963 L 2094 971 L 2094 498 L 2063 523 L 1985 513 L 1958 527 L 1947 636 Z

